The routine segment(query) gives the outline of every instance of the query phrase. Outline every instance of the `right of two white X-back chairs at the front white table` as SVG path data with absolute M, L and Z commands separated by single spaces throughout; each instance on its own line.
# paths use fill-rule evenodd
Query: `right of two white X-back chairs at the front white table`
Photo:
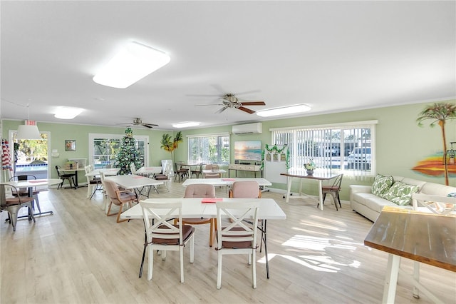
M 217 202 L 216 206 L 217 221 L 220 225 L 222 213 L 229 216 L 231 221 L 227 227 L 217 230 L 217 289 L 222 287 L 222 257 L 227 254 L 248 255 L 247 263 L 252 264 L 252 287 L 257 288 L 256 253 L 259 202 Z

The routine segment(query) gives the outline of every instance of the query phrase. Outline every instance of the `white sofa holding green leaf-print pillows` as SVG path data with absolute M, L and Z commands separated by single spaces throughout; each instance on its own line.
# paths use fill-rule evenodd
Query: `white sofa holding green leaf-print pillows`
M 409 185 L 419 186 L 419 193 L 434 196 L 447 196 L 448 193 L 456 193 L 456 187 L 441 185 L 440 183 L 429 183 L 419 181 L 413 178 L 405 178 L 403 176 L 393 176 L 394 182 L 400 181 Z M 399 208 L 413 208 L 408 206 L 398 206 L 393 202 L 380 198 L 372 193 L 371 186 L 350 185 L 350 206 L 353 211 L 361 214 L 371 221 L 375 221 L 382 211 L 384 206 L 394 206 Z

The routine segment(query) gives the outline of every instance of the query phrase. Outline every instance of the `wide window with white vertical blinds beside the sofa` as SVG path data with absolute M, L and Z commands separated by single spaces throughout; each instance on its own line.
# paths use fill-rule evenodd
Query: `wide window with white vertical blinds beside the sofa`
M 270 131 L 272 143 L 289 146 L 291 168 L 303 168 L 312 160 L 319 171 L 374 176 L 376 123 L 361 121 Z

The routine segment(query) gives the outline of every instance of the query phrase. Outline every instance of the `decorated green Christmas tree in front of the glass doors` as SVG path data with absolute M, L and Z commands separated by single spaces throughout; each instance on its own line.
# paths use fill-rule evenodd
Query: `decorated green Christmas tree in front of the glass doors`
M 115 157 L 114 166 L 120 168 L 120 175 L 125 175 L 131 173 L 130 163 L 134 163 L 135 168 L 142 166 L 140 153 L 138 148 L 136 148 L 135 138 L 133 138 L 133 131 L 131 128 L 126 128 L 125 136 L 123 136 L 120 142 L 120 148 Z

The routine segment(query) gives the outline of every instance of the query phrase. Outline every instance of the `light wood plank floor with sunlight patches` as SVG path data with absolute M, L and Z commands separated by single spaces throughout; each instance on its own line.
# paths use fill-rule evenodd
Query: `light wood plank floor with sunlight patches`
M 153 197 L 182 197 L 182 184 L 172 183 Z M 264 253 L 257 261 L 257 289 L 251 286 L 247 257 L 225 256 L 222 289 L 217 290 L 217 252 L 208 246 L 209 226 L 197 226 L 195 263 L 185 250 L 185 283 L 180 283 L 179 255 L 155 256 L 154 278 L 147 280 L 147 260 L 138 278 L 143 226 L 139 220 L 115 223 L 100 209 L 103 196 L 86 198 L 87 188 L 51 189 L 40 193 L 51 216 L 36 223 L 21 220 L 16 232 L 1 213 L 0 303 L 380 303 L 387 254 L 363 245 L 371 221 L 351 211 L 325 210 L 280 193 L 274 198 L 286 221 L 269 221 L 271 278 L 266 279 Z M 224 188 L 217 188 L 224 197 Z M 24 208 L 24 211 L 26 209 Z M 189 249 L 189 248 L 186 248 Z M 455 253 L 452 253 L 455 254 Z M 413 263 L 403 260 L 403 268 Z M 456 303 L 456 274 L 422 265 L 422 282 L 445 303 Z M 397 303 L 430 303 L 411 295 L 399 276 Z

